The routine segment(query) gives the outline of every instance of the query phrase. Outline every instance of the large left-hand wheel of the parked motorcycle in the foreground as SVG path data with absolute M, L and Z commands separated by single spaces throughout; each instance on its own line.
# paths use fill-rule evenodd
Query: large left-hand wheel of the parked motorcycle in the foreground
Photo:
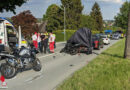
M 1 64 L 1 75 L 4 76 L 5 79 L 11 79 L 16 75 L 16 69 L 6 63 Z

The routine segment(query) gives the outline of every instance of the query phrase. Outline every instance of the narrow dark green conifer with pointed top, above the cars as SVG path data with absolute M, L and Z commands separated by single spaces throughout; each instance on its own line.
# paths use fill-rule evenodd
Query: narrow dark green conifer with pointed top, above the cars
M 100 11 L 100 7 L 97 2 L 92 7 L 92 11 L 90 13 L 91 17 L 95 20 L 94 26 L 98 31 L 103 30 L 103 18 L 102 13 Z

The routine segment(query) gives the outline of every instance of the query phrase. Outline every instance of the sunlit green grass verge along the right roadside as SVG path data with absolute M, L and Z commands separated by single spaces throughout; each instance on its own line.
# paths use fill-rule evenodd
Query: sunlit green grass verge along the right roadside
M 111 46 L 57 90 L 130 90 L 130 60 L 123 58 L 124 43 L 120 40 Z

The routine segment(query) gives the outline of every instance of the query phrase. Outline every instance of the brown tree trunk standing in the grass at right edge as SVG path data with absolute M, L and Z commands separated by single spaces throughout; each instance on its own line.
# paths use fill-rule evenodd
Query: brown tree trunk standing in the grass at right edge
M 128 15 L 128 30 L 126 32 L 124 58 L 130 59 L 130 12 Z

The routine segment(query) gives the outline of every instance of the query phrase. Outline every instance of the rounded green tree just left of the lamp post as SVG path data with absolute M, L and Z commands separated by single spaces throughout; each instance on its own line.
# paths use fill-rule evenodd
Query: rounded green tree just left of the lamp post
M 47 30 L 57 30 L 63 28 L 63 10 L 56 4 L 48 7 L 43 21 L 47 21 Z

